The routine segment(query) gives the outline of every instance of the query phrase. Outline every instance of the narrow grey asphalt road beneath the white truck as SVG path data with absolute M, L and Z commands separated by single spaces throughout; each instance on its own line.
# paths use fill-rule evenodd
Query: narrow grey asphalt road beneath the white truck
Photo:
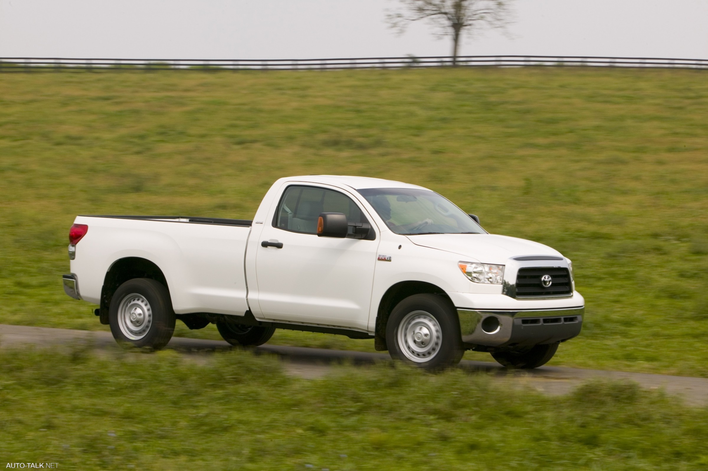
M 96 348 L 118 348 L 110 332 L 0 324 L 0 348 L 21 344 L 35 344 L 38 346 L 67 344 L 81 339 L 93 341 Z M 225 341 L 173 337 L 167 348 L 173 348 L 189 355 L 198 355 L 209 351 L 229 350 L 232 346 Z M 333 367 L 343 361 L 352 362 L 356 365 L 367 365 L 375 361 L 389 359 L 387 353 L 325 350 L 322 348 L 268 344 L 255 348 L 255 351 L 273 353 L 280 356 L 288 373 L 304 378 L 318 378 L 326 375 Z M 708 378 L 586 370 L 559 366 L 542 366 L 530 371 L 510 372 L 501 368 L 497 363 L 484 361 L 462 361 L 459 364 L 459 368 L 472 372 L 487 373 L 495 380 L 506 382 L 510 387 L 532 387 L 549 395 L 562 395 L 583 381 L 592 378 L 604 378 L 610 380 L 632 380 L 647 389 L 663 389 L 670 395 L 683 397 L 687 404 L 708 404 Z

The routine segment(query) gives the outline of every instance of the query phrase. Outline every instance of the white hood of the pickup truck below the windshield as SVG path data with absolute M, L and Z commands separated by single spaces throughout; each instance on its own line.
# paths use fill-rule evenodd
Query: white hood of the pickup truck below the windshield
M 551 247 L 496 234 L 426 234 L 408 237 L 413 244 L 430 249 L 460 254 L 481 263 L 506 263 L 507 259 L 522 255 L 554 255 L 561 253 Z

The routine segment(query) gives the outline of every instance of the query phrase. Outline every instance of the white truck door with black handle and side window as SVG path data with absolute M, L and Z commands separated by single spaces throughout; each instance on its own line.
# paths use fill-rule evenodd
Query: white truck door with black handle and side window
M 321 212 L 369 222 L 365 210 L 341 191 L 287 186 L 273 219 L 263 224 L 252 297 L 265 319 L 367 329 L 379 237 L 318 237 Z

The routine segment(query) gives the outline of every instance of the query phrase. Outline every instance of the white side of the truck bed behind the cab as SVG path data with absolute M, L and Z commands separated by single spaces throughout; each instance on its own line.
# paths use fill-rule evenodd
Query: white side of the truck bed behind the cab
M 99 304 L 106 273 L 118 263 L 144 259 L 164 274 L 177 314 L 248 310 L 244 254 L 251 221 L 80 215 L 75 222 L 89 226 L 72 261 L 84 300 Z

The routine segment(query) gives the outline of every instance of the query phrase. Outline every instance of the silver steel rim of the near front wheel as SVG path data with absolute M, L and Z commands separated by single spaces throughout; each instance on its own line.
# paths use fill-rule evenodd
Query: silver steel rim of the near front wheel
M 413 311 L 401 320 L 398 341 L 404 356 L 416 363 L 430 361 L 440 351 L 442 331 L 438 319 L 425 311 Z

